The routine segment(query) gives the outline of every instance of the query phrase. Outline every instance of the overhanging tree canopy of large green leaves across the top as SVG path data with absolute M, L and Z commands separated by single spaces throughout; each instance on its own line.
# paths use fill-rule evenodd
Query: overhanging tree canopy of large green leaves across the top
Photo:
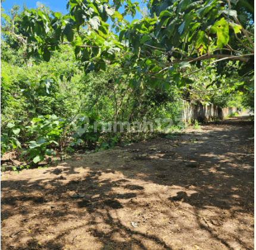
M 21 26 L 28 35 L 11 33 L 26 45 L 27 58 L 49 61 L 52 51 L 68 43 L 86 73 L 118 65 L 129 86 L 142 88 L 186 86 L 193 82 L 191 74 L 209 65 L 220 68 L 223 61 L 252 64 L 254 8 L 249 1 L 153 0 L 146 5 L 148 15 L 129 23 L 126 15 L 141 11 L 138 2 L 71 0 L 67 15 L 26 10 Z M 198 69 L 186 72 L 193 64 Z

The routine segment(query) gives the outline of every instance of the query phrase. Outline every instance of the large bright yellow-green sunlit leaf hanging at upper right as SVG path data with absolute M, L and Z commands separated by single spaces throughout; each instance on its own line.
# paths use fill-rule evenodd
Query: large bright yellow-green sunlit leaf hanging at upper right
M 211 26 L 209 33 L 217 33 L 217 46 L 220 49 L 226 46 L 229 42 L 229 24 L 227 24 L 224 17 Z

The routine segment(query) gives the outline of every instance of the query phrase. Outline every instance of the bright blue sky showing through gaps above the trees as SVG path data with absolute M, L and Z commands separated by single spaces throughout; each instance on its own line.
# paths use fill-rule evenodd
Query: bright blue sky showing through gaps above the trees
M 141 3 L 141 0 L 133 0 L 132 2 L 138 1 Z M 63 14 L 67 13 L 66 10 L 66 5 L 67 5 L 67 0 L 55 0 L 55 1 L 35 1 L 35 0 L 25 0 L 25 5 L 28 8 L 36 8 L 37 7 L 37 3 L 40 2 L 42 4 L 44 4 L 46 7 L 49 8 L 49 10 L 52 10 L 54 12 L 62 12 Z M 4 8 L 5 11 L 10 10 L 10 8 L 13 6 L 13 4 L 16 3 L 17 5 L 20 5 L 20 7 L 23 6 L 23 1 L 22 0 L 6 0 L 5 2 L 2 2 L 2 8 Z M 121 8 L 119 9 L 120 12 L 122 12 L 123 10 L 121 10 Z M 136 14 L 134 19 L 140 19 L 141 15 Z M 132 17 L 127 16 L 126 20 L 128 21 L 132 21 Z

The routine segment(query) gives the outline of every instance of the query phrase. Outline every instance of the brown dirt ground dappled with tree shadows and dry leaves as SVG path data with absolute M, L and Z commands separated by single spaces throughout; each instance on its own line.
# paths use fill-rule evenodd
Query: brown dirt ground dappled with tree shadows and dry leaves
M 3 172 L 1 248 L 254 249 L 253 129 L 233 117 Z

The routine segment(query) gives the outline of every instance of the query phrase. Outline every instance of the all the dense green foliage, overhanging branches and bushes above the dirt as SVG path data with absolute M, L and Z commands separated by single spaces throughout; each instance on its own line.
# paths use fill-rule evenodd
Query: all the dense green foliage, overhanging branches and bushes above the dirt
M 1 155 L 18 147 L 21 158 L 38 164 L 55 149 L 109 148 L 150 137 L 149 127 L 102 132 L 94 122 L 108 127 L 146 119 L 156 128 L 157 119 L 170 118 L 177 124 L 184 100 L 254 107 L 248 1 L 146 5 L 146 14 L 131 23 L 126 15 L 141 9 L 130 0 L 71 0 L 67 15 L 43 5 L 1 8 Z

